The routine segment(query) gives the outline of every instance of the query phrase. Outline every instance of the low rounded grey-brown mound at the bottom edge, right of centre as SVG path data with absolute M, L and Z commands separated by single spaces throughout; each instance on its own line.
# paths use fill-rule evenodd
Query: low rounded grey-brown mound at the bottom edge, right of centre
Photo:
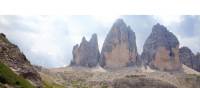
M 168 82 L 147 78 L 133 77 L 114 80 L 113 88 L 177 88 Z

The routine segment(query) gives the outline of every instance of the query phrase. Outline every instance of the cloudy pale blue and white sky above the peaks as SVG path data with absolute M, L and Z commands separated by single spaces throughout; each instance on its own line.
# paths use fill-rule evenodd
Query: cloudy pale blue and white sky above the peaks
M 200 16 L 197 15 L 1 15 L 0 32 L 18 45 L 32 64 L 62 67 L 70 63 L 72 48 L 80 44 L 83 36 L 89 40 L 96 33 L 101 50 L 106 34 L 118 18 L 135 32 L 139 53 L 156 23 L 174 33 L 180 47 L 200 52 Z

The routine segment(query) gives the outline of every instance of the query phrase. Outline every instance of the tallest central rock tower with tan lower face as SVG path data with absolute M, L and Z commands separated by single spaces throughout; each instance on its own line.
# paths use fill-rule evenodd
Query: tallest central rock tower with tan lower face
M 135 65 L 137 56 L 135 33 L 122 19 L 118 19 L 104 41 L 100 65 L 105 68 Z

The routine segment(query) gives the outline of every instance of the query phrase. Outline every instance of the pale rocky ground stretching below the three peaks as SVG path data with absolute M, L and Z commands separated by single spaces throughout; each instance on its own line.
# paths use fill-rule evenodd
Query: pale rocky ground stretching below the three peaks
M 43 81 L 56 88 L 200 88 L 199 72 L 185 65 L 181 72 L 171 73 L 148 67 L 37 69 Z

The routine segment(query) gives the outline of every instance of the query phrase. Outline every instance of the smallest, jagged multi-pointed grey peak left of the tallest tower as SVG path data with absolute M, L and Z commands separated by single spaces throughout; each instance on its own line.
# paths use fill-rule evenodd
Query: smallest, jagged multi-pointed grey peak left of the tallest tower
M 71 66 L 97 66 L 100 57 L 97 35 L 93 34 L 89 42 L 83 37 L 80 46 L 75 45 L 72 53 Z

